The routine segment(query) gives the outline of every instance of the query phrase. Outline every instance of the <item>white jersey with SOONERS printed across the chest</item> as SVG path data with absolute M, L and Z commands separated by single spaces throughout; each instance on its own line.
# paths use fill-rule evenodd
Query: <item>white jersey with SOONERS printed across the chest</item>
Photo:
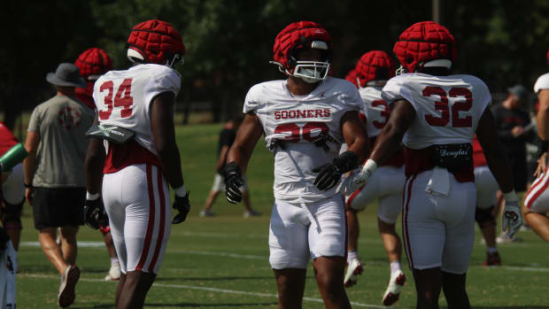
M 289 203 L 313 203 L 336 194 L 313 185 L 316 166 L 338 155 L 344 137 L 340 121 L 345 112 L 360 111 L 359 91 L 349 81 L 329 77 L 306 96 L 294 96 L 288 81 L 266 81 L 253 86 L 244 112 L 254 112 L 261 122 L 267 146 L 285 141 L 285 150 L 274 150 L 274 197 Z M 328 150 L 313 143 L 327 135 Z

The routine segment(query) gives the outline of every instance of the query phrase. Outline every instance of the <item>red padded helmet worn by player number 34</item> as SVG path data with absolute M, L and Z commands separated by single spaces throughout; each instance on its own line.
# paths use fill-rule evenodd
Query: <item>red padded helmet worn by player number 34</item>
M 132 62 L 174 66 L 183 61 L 185 45 L 177 30 L 166 21 L 143 21 L 128 37 L 128 59 Z

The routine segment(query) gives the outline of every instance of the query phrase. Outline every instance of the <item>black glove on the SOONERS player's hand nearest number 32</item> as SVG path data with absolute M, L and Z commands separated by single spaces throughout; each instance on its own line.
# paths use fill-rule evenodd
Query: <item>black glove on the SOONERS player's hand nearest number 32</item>
M 313 184 L 316 188 L 325 191 L 333 188 L 337 182 L 341 181 L 341 175 L 359 166 L 358 161 L 359 158 L 354 152 L 345 151 L 339 157 L 334 158 L 332 163 L 313 168 L 313 173 L 318 173 Z

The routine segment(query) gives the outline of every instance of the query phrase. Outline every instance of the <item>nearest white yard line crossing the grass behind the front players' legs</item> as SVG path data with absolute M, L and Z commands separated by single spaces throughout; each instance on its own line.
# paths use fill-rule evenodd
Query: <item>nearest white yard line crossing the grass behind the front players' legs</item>
M 19 277 L 47 278 L 47 279 L 59 280 L 58 276 L 50 275 L 50 274 L 18 274 L 18 276 Z M 108 282 L 105 282 L 102 279 L 90 279 L 90 278 L 82 278 L 81 281 L 108 283 Z M 227 293 L 227 294 L 278 298 L 277 294 L 248 292 L 248 291 L 244 291 L 244 290 L 226 290 L 226 289 L 217 289 L 217 288 L 208 288 L 208 287 L 197 287 L 197 286 L 185 285 L 185 284 L 154 283 L 154 284 L 152 284 L 152 286 L 159 287 L 159 288 L 173 288 L 173 289 L 183 289 L 183 290 L 208 290 L 208 291 L 212 291 L 212 292 L 220 292 L 220 293 Z M 320 298 L 303 297 L 303 300 L 310 301 L 310 302 L 315 302 L 315 303 L 323 303 L 322 299 L 320 299 Z M 388 308 L 388 307 L 383 306 L 383 305 L 370 305 L 370 304 L 362 304 L 362 303 L 357 303 L 357 302 L 351 302 L 351 305 L 355 305 L 355 306 L 358 306 L 358 307 L 366 307 L 366 308 Z

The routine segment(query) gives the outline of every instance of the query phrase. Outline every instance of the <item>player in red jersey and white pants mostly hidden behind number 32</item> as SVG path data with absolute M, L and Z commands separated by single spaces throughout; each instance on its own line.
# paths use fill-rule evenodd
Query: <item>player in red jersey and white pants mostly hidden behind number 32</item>
M 498 182 L 491 174 L 484 157 L 483 147 L 478 139 L 473 139 L 473 164 L 475 166 L 476 208 L 475 220 L 486 242 L 486 260 L 483 267 L 501 266 L 501 258 L 496 243 L 496 219 L 494 208 L 497 205 Z

